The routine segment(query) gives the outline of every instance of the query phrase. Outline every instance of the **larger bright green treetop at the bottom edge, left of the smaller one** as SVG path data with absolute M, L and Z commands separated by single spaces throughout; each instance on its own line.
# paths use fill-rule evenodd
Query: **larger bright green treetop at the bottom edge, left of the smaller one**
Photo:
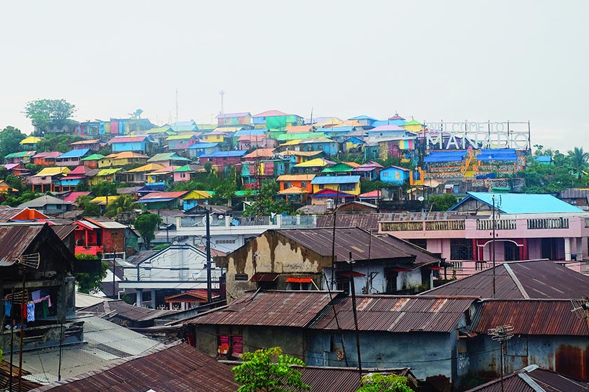
M 245 362 L 233 367 L 233 377 L 241 386 L 238 392 L 309 391 L 295 366 L 304 366 L 299 358 L 283 353 L 280 347 L 243 353 Z

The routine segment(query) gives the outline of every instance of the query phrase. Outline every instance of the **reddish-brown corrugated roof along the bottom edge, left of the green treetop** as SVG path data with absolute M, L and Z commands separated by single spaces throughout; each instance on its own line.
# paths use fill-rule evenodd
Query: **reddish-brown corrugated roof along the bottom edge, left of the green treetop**
M 235 392 L 231 367 L 180 343 L 140 358 L 32 391 L 52 392 Z

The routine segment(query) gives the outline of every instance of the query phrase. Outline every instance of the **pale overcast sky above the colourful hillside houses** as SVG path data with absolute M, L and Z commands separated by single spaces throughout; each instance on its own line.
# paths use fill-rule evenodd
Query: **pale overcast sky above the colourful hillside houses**
M 532 122 L 589 149 L 589 1 L 11 1 L 0 5 L 0 127 L 26 102 L 75 119 L 137 108 Z

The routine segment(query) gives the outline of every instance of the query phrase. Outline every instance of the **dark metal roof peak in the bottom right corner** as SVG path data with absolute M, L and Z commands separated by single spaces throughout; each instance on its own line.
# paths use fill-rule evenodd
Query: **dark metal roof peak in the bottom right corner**
M 549 392 L 589 391 L 587 382 L 578 381 L 551 370 L 544 370 L 536 365 L 529 365 L 503 377 L 503 387 L 501 387 L 501 379 L 494 379 L 476 388 L 468 389 L 466 392 L 501 392 L 503 390 L 538 392 L 540 390 L 537 386 L 540 386 L 542 391 Z

